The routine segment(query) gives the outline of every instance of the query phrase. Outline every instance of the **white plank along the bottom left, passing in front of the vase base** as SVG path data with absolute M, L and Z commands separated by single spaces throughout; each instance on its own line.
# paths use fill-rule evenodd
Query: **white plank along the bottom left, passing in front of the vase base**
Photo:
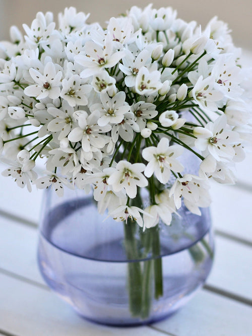
M 0 274 L 0 328 L 20 336 L 161 336 L 143 326 L 115 328 L 81 318 L 53 293 Z

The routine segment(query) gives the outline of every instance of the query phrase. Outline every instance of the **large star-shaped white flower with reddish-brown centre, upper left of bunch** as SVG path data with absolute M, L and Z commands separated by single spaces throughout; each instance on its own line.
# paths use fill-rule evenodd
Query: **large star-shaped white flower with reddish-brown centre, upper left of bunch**
M 25 88 L 24 93 L 29 97 L 43 99 L 49 97 L 51 99 L 58 98 L 60 95 L 60 79 L 62 73 L 56 72 L 55 65 L 52 62 L 47 62 L 44 68 L 44 74 L 31 68 L 29 73 L 36 84 Z

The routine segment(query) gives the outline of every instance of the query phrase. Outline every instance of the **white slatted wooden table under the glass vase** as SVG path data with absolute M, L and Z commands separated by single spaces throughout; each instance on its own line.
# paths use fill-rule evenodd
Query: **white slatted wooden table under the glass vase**
M 251 168 L 252 154 L 235 186 L 212 187 L 216 256 L 204 288 L 168 319 L 136 328 L 88 322 L 48 289 L 36 263 L 42 192 L 0 176 L 0 335 L 251 336 Z

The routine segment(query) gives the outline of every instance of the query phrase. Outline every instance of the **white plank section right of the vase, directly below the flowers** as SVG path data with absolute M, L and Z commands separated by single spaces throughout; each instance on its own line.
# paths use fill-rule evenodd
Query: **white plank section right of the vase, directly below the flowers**
M 214 228 L 252 242 L 252 192 L 235 185 L 212 184 L 211 196 Z

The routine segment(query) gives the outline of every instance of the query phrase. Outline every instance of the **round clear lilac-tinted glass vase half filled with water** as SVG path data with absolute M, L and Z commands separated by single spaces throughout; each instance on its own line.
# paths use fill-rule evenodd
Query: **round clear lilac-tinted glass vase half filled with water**
M 92 193 L 45 190 L 38 244 L 41 274 L 85 318 L 108 325 L 163 319 L 205 282 L 213 262 L 208 209 L 185 207 L 171 225 L 144 232 L 100 215 Z

